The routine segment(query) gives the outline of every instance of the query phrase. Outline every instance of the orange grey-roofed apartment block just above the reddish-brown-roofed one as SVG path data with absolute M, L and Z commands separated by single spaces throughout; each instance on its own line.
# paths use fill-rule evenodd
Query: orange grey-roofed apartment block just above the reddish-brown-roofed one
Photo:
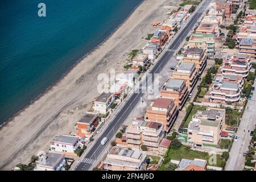
M 188 98 L 188 86 L 185 80 L 169 78 L 160 90 L 160 96 L 163 98 L 171 98 L 175 100 L 175 104 L 181 110 Z

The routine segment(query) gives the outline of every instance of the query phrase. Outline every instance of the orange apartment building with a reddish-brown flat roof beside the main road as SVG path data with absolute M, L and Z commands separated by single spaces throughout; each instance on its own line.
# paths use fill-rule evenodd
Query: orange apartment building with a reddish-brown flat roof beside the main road
M 148 107 L 145 118 L 147 121 L 161 122 L 164 130 L 170 131 L 177 117 L 178 106 L 174 99 L 156 98 Z

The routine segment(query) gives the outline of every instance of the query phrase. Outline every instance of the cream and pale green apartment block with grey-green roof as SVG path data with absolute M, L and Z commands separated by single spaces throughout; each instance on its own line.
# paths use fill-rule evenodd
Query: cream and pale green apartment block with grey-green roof
M 207 57 L 213 59 L 215 55 L 214 34 L 195 33 L 192 34 L 188 46 L 190 48 L 206 49 Z

